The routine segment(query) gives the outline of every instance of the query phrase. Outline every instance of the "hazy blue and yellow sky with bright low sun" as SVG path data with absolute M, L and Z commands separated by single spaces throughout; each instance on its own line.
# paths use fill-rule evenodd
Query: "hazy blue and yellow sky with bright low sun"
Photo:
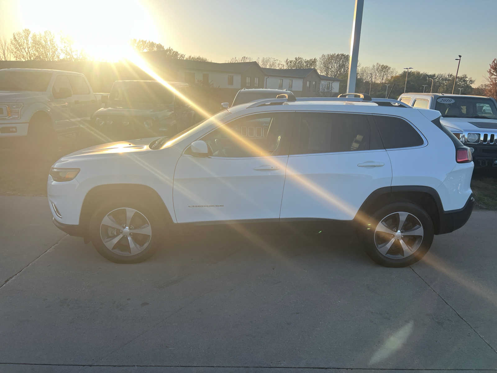
M 23 28 L 71 36 L 117 59 L 131 38 L 214 62 L 349 53 L 354 0 L 0 0 L 0 37 Z M 84 5 L 83 5 L 84 4 Z M 361 66 L 455 73 L 483 83 L 497 58 L 497 0 L 364 0 Z

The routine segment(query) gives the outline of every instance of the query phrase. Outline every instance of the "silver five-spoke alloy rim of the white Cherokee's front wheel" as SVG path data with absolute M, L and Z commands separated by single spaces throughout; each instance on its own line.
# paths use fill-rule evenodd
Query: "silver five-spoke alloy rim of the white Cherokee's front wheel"
M 100 238 L 112 253 L 137 255 L 149 245 L 152 228 L 140 211 L 121 207 L 104 216 L 100 223 Z

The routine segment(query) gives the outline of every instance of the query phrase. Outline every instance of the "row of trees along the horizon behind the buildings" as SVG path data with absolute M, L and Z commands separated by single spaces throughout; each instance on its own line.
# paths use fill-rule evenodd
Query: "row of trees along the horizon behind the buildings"
M 185 55 L 163 44 L 145 39 L 131 39 L 129 45 L 137 52 L 163 51 L 166 58 L 186 59 L 211 62 L 200 55 Z M 0 38 L 0 60 L 15 59 L 17 61 L 83 61 L 88 55 L 83 49 L 75 47 L 74 41 L 65 35 L 56 35 L 52 31 L 31 32 L 25 28 L 12 34 L 10 39 Z M 273 57 L 250 56 L 233 57 L 226 62 L 256 61 L 262 68 L 272 69 L 305 69 L 315 68 L 320 74 L 337 78 L 341 81 L 339 93 L 345 93 L 348 79 L 349 55 L 346 53 L 327 53 L 316 58 L 301 56 L 284 61 Z M 487 71 L 486 82 L 479 87 L 473 87 L 475 80 L 466 74 L 457 77 L 454 93 L 489 95 L 497 98 L 497 58 L 492 61 Z M 395 68 L 376 63 L 371 66 L 357 67 L 356 91 L 370 93 L 375 97 L 398 97 L 404 92 L 406 71 L 399 73 Z M 408 76 L 406 92 L 451 93 L 454 83 L 452 73 L 430 74 L 411 71 Z

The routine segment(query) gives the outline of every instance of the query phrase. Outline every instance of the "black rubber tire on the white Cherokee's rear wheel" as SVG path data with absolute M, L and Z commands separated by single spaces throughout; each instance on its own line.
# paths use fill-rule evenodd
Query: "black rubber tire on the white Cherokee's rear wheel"
M 406 225 L 403 226 L 412 228 L 406 229 L 406 233 L 395 233 L 399 235 L 406 234 L 406 236 L 402 235 L 402 238 L 398 239 L 395 235 L 377 231 L 377 228 L 382 229 L 379 226 L 379 223 L 382 221 L 390 223 L 391 225 L 387 224 L 386 226 L 390 226 L 393 231 L 395 231 L 395 226 L 397 225 L 397 229 L 400 231 L 400 227 L 398 227 L 401 218 L 400 214 L 406 216 L 404 215 L 404 212 L 408 214 L 408 217 L 405 220 Z M 420 233 L 417 228 L 418 225 L 422 228 L 422 237 L 408 234 L 413 233 L 414 230 L 416 230 L 415 233 Z M 412 202 L 390 203 L 374 212 L 364 226 L 365 232 L 363 234 L 363 239 L 366 253 L 372 260 L 384 267 L 407 267 L 416 263 L 428 252 L 431 243 L 433 242 L 434 230 L 430 216 L 423 208 Z M 391 241 L 393 241 L 393 243 L 390 243 Z M 391 246 L 389 246 L 387 253 L 385 253 L 386 255 L 382 254 L 378 247 L 382 247 L 382 250 L 386 250 L 385 248 L 389 243 Z M 409 251 L 403 248 L 409 243 L 411 245 L 408 245 L 408 248 L 414 249 L 417 247 L 417 249 L 415 249 L 412 254 L 410 253 L 408 256 L 405 256 L 403 253 L 409 253 Z

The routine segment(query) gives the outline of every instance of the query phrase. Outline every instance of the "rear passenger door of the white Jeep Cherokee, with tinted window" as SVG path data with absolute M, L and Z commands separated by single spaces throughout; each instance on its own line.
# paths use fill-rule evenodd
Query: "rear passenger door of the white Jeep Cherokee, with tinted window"
M 292 137 L 281 204 L 285 219 L 351 220 L 392 168 L 367 114 L 302 112 Z

